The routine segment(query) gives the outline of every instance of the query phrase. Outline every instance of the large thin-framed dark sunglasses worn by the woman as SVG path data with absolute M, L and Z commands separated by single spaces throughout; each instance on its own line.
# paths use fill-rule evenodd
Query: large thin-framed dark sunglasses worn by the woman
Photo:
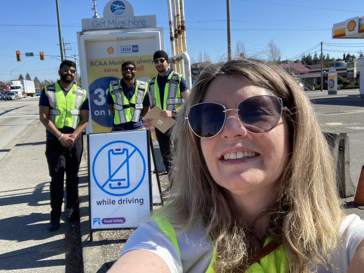
M 227 111 L 237 111 L 241 124 L 253 134 L 264 134 L 272 130 L 282 115 L 288 110 L 282 99 L 271 95 L 259 95 L 244 99 L 237 109 L 225 109 L 215 102 L 202 102 L 187 109 L 191 130 L 200 138 L 212 138 L 222 130 Z

